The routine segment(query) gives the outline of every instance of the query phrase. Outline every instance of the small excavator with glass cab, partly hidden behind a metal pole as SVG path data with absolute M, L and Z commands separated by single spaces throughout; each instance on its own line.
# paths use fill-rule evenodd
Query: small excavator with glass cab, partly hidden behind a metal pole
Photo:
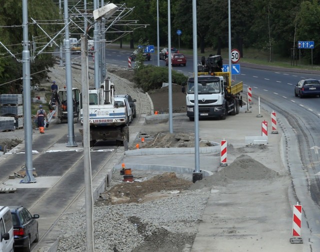
M 80 90 L 76 87 L 72 88 L 72 100 L 73 100 L 73 123 L 77 123 L 79 120 L 80 112 Z M 56 124 L 61 122 L 67 122 L 67 106 L 66 106 L 66 88 L 54 90 L 49 101 L 49 109 L 55 110 Z

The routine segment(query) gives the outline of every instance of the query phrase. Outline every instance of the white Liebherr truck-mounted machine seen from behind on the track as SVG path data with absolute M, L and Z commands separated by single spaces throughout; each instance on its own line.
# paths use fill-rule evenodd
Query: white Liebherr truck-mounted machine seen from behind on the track
M 96 89 L 89 88 L 90 146 L 96 140 L 116 140 L 117 145 L 129 141 L 129 117 L 127 107 L 114 100 L 114 84 L 110 78 Z M 130 109 L 130 108 L 128 108 Z M 82 108 L 80 110 L 83 123 Z M 82 134 L 82 129 L 79 130 Z

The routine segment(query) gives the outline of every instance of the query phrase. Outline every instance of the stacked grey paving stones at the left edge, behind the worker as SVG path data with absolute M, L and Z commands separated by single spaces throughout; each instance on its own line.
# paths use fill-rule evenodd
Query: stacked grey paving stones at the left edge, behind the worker
M 0 130 L 14 130 L 23 127 L 22 94 L 0 94 Z M 11 118 L 11 119 L 5 119 Z M 13 125 L 12 123 L 13 118 Z M 13 128 L 13 129 L 12 129 Z

